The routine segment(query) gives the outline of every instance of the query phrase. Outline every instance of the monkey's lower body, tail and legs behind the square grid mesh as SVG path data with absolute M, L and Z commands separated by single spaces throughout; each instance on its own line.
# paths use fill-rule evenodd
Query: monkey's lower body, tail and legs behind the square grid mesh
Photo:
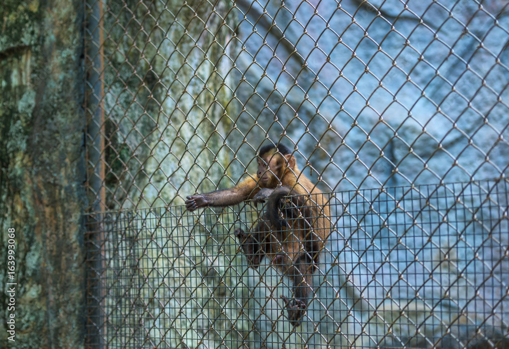
M 327 239 L 324 228 L 330 226 L 322 208 L 310 201 L 317 200 L 294 189 L 278 187 L 268 197 L 263 218 L 252 231 L 246 233 L 240 228 L 234 231 L 251 267 L 258 268 L 261 259 L 267 256 L 292 281 L 294 298 L 280 297 L 293 326 L 300 325 L 306 312 L 313 293 L 313 274 L 318 270 L 320 252 Z

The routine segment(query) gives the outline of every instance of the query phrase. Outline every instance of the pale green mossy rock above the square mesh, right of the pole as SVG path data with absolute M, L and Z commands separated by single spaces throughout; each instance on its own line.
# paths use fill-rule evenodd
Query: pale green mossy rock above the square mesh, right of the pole
M 228 176 L 221 137 L 238 106 L 229 89 L 236 40 L 223 24 L 238 20 L 230 6 L 127 1 L 131 12 L 105 3 L 108 209 L 181 205 Z

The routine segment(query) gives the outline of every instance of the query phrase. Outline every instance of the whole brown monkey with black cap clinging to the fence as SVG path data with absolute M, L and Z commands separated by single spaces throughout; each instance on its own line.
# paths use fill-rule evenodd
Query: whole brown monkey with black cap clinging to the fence
M 292 151 L 284 144 L 261 147 L 257 163 L 258 181 L 250 175 L 233 188 L 187 196 L 186 209 L 225 207 L 249 199 L 257 205 L 267 200 L 266 211 L 253 231 L 236 229 L 234 234 L 251 267 L 257 268 L 268 255 L 271 263 L 293 280 L 295 298 L 281 298 L 290 323 L 299 325 L 312 290 L 319 252 L 330 234 L 329 204 L 300 172 Z

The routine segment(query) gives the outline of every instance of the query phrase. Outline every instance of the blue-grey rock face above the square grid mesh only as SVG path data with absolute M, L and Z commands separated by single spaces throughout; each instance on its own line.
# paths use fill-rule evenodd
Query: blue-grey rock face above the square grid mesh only
M 245 79 L 236 90 L 246 102 L 242 131 L 257 120 L 253 144 L 265 134 L 296 144 L 301 167 L 321 173 L 323 189 L 507 173 L 504 2 L 239 8 L 247 18 L 236 62 Z

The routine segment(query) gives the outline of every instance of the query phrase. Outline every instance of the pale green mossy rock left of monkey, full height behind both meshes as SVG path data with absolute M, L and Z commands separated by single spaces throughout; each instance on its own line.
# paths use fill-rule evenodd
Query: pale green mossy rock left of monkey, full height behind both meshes
M 228 166 L 233 156 L 223 139 L 238 107 L 231 100 L 233 75 L 229 74 L 236 40 L 223 21 L 234 27 L 238 18 L 230 12 L 228 1 L 143 6 L 127 1 L 126 6 L 133 12 L 123 11 L 124 4 L 107 2 L 104 24 L 109 33 L 104 46 L 105 154 L 110 169 L 106 202 L 108 209 L 137 209 L 135 214 L 144 217 L 133 223 L 141 232 L 136 239 L 143 244 L 134 252 L 140 266 L 136 276 L 144 282 L 135 288 L 139 298 L 125 300 L 139 302 L 139 317 L 123 315 L 134 323 L 146 316 L 145 326 L 152 330 L 141 344 L 135 336 L 114 331 L 108 340 L 113 345 L 128 340 L 143 347 L 164 340 L 169 347 L 221 342 L 232 346 L 243 340 L 250 326 L 246 315 L 232 308 L 241 307 L 239 303 L 230 302 L 248 298 L 247 287 L 235 287 L 241 275 L 230 267 L 241 261 L 231 260 L 236 244 L 230 235 L 210 229 L 211 216 L 197 218 L 175 206 L 197 188 L 232 186 L 244 171 L 243 166 L 235 166 L 232 175 L 233 166 Z M 168 230 L 146 230 L 145 219 L 155 214 L 144 209 L 166 206 L 171 206 L 163 221 Z M 234 216 L 217 219 L 228 224 Z M 119 252 L 118 263 L 133 257 L 123 252 L 127 253 Z M 154 299 L 160 302 L 157 307 L 152 305 Z M 114 309 L 115 300 L 108 298 L 105 305 Z M 228 330 L 231 318 L 239 318 L 237 331 Z M 125 327 L 117 323 L 121 319 L 112 316 L 109 326 Z

